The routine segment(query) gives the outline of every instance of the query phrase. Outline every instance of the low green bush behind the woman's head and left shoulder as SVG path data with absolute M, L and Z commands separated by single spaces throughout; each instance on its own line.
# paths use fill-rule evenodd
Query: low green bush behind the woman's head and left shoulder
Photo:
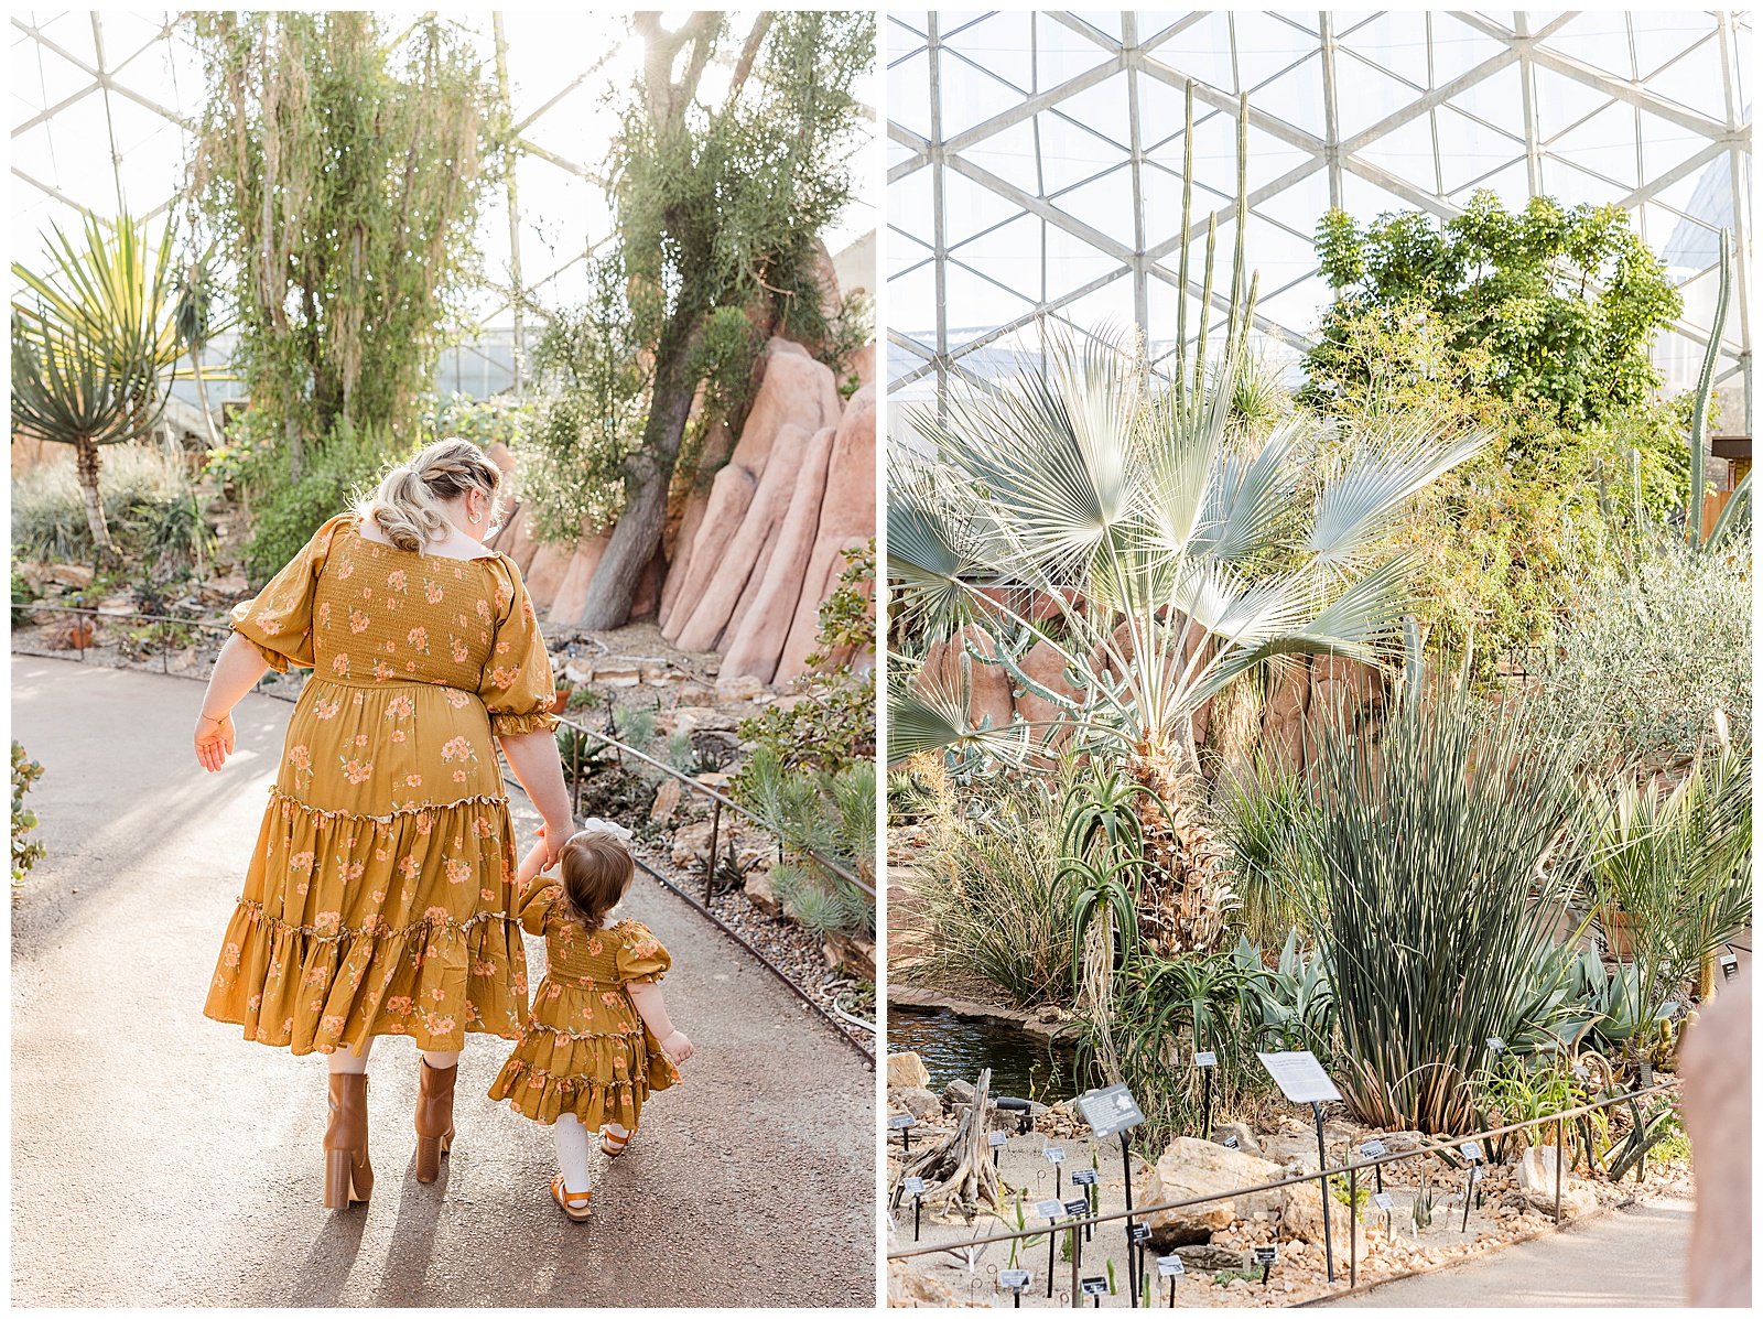
M 338 421 L 337 430 L 309 451 L 296 481 L 279 474 L 280 453 L 275 448 L 256 450 L 243 473 L 252 485 L 263 485 L 263 494 L 252 501 L 247 577 L 261 584 L 279 573 L 326 518 L 342 513 L 356 496 L 368 494 L 388 466 L 416 448 L 420 443 L 400 450 L 384 430 Z

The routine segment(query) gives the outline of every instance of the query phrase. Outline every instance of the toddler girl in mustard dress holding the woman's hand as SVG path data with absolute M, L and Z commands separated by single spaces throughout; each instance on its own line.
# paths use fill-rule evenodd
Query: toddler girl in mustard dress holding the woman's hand
M 490 1086 L 490 1099 L 552 1127 L 552 1199 L 577 1222 L 589 1217 L 589 1132 L 606 1155 L 624 1153 L 643 1102 L 675 1084 L 675 1063 L 693 1053 L 661 1002 L 666 949 L 636 920 L 606 926 L 635 873 L 621 836 L 629 831 L 589 820 L 559 853 L 561 878 L 539 875 L 543 843 L 520 864 L 520 924 L 545 935 L 545 979 Z

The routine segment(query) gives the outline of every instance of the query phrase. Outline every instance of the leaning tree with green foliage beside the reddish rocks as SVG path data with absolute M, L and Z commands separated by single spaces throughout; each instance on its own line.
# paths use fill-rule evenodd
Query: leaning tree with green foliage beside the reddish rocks
M 755 323 L 829 333 L 820 235 L 852 196 L 852 85 L 874 65 L 873 11 L 767 12 L 746 34 L 719 12 L 672 30 L 652 11 L 633 21 L 643 67 L 612 175 L 647 413 L 619 460 L 622 508 L 580 628 L 629 619 L 698 386 L 751 367 Z M 728 56 L 712 95 L 705 71 Z

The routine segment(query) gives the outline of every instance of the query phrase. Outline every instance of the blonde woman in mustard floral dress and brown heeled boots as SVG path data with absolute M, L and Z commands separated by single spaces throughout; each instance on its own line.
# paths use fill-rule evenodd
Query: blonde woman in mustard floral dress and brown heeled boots
M 421 1051 L 416 1178 L 453 1139 L 469 1032 L 517 1039 L 527 966 L 497 742 L 545 818 L 571 832 L 550 658 L 520 571 L 485 550 L 501 471 L 444 439 L 333 517 L 233 610 L 196 727 L 219 771 L 229 711 L 266 668 L 312 668 L 287 725 L 206 1014 L 245 1039 L 326 1054 L 324 1204 L 365 1201 L 376 1035 Z

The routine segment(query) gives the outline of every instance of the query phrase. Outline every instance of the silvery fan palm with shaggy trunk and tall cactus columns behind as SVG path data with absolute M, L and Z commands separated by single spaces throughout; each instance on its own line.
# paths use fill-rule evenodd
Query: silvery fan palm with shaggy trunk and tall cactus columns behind
M 1229 905 L 1194 799 L 1194 712 L 1285 656 L 1379 663 L 1407 582 L 1405 559 L 1379 552 L 1382 538 L 1417 490 L 1483 443 L 1440 443 L 1428 423 L 1398 421 L 1331 446 L 1305 418 L 1287 418 L 1259 444 L 1231 437 L 1255 305 L 1255 284 L 1243 279 L 1246 118 L 1245 99 L 1220 363 L 1209 363 L 1204 319 L 1192 370 L 1178 324 L 1171 379 L 1153 381 L 1139 344 L 1102 335 L 1079 351 L 1054 339 L 1044 374 L 986 391 L 954 386 L 940 411 L 913 413 L 934 457 L 899 462 L 889 483 L 896 607 L 938 635 L 980 622 L 996 654 L 966 642 L 961 665 L 1001 663 L 1015 686 L 1053 702 L 1056 725 L 1118 756 L 1146 788 L 1139 924 L 1164 952 L 1211 947 Z M 1192 90 L 1188 123 L 1192 143 Z M 1188 199 L 1185 229 L 1190 219 Z M 1204 307 L 1213 245 L 1209 227 Z M 1047 601 L 1058 628 L 1037 626 L 1037 607 L 1021 598 Z M 1079 698 L 1023 672 L 1037 638 L 1054 647 Z M 959 667 L 952 689 L 894 681 L 890 760 L 975 748 L 1023 762 L 1051 735 L 1023 723 L 970 727 L 964 686 Z

